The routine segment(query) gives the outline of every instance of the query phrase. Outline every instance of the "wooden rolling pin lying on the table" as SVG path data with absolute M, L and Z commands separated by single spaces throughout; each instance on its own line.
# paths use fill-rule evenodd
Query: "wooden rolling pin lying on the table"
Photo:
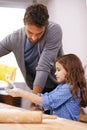
M 41 111 L 28 111 L 17 109 L 0 109 L 1 123 L 41 123 L 42 119 L 56 119 L 55 115 L 46 115 Z

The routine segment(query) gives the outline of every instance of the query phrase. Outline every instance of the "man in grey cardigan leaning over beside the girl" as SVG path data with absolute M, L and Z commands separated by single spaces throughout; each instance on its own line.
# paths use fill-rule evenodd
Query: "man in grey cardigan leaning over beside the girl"
M 0 56 L 14 53 L 33 93 L 51 91 L 57 86 L 54 62 L 56 57 L 63 54 L 62 30 L 58 24 L 49 22 L 48 19 L 46 6 L 33 4 L 26 9 L 24 28 L 0 42 Z M 31 108 L 33 109 L 33 104 Z

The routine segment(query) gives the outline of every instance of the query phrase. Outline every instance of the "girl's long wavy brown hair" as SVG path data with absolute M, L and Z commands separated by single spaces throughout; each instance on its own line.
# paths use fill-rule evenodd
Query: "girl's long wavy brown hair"
M 59 57 L 59 62 L 67 72 L 66 83 L 73 86 L 71 93 L 74 97 L 78 97 L 78 91 L 81 93 L 81 106 L 87 106 L 87 83 L 84 74 L 84 68 L 81 60 L 75 54 L 67 54 Z

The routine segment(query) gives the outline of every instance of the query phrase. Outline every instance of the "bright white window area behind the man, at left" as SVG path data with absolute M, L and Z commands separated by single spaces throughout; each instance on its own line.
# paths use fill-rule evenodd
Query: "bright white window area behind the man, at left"
M 24 9 L 0 7 L 0 41 L 14 30 L 23 26 L 24 12 Z M 13 53 L 0 57 L 0 64 L 15 66 L 17 68 L 15 81 L 24 81 Z

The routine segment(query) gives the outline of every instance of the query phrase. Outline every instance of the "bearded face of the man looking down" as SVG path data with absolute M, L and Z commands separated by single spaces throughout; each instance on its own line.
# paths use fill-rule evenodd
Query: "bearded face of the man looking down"
M 38 40 L 42 37 L 42 35 L 45 32 L 45 26 L 43 27 L 37 27 L 32 24 L 26 24 L 25 25 L 25 33 L 27 35 L 27 38 L 32 44 L 35 44 L 38 42 Z

